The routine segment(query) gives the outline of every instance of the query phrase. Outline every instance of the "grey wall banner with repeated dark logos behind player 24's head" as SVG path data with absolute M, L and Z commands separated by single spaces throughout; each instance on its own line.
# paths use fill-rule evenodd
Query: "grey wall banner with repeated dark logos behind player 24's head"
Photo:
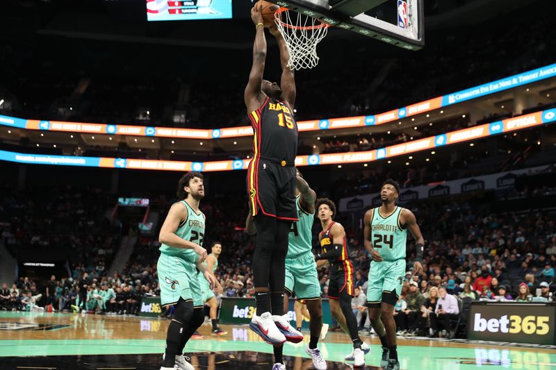
M 476 192 L 480 190 L 497 190 L 513 187 L 516 178 L 525 174 L 539 174 L 548 169 L 548 165 L 532 167 L 528 169 L 516 169 L 515 171 L 500 172 L 484 176 L 462 178 L 451 180 L 439 185 L 422 185 L 409 187 L 400 192 L 398 203 L 416 201 L 417 199 L 428 199 L 466 192 Z M 377 207 L 382 203 L 380 193 L 358 195 L 350 198 L 340 199 L 340 212 L 357 211 L 366 208 Z

